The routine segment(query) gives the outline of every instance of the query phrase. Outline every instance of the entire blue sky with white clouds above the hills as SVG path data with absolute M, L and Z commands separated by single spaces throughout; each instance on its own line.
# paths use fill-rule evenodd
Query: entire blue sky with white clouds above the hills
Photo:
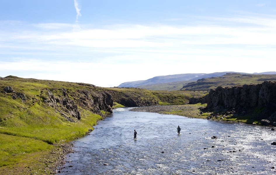
M 275 0 L 0 0 L 0 76 L 114 87 L 276 71 Z

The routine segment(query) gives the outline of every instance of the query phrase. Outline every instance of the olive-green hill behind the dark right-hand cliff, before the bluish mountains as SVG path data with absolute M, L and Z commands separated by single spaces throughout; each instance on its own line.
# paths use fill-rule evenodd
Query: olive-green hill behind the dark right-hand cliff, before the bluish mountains
M 241 86 L 244 84 L 259 84 L 264 81 L 276 81 L 276 75 L 263 75 L 263 74 L 225 74 L 220 77 L 202 78 L 196 82 L 184 85 L 181 90 L 207 90 L 215 89 L 218 86 Z

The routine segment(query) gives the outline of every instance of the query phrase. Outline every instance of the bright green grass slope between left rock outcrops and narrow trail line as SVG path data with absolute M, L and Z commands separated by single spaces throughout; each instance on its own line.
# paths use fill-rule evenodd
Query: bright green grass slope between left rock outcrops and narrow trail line
M 38 104 L 10 120 L 1 122 L 0 133 L 34 138 L 50 144 L 81 137 L 96 125 L 100 115 L 84 111 L 80 122 L 66 122 L 51 108 Z

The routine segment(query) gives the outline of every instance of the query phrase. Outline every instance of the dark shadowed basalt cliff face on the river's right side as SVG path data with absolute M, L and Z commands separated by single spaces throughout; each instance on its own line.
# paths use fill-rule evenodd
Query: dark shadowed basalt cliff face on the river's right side
M 276 111 L 276 82 L 265 81 L 257 85 L 243 85 L 242 87 L 218 87 L 210 90 L 204 98 L 209 110 L 233 110 L 246 112 L 247 109 L 265 108 L 263 118 L 275 118 Z M 275 118 L 276 120 L 276 118 Z

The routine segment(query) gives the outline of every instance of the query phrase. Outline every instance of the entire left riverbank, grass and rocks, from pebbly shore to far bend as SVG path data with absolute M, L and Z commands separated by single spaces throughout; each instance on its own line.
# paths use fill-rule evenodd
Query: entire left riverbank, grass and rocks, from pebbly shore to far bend
M 55 174 L 69 141 L 124 106 L 187 104 L 199 93 L 0 79 L 0 174 Z M 91 145 L 93 146 L 93 145 Z

